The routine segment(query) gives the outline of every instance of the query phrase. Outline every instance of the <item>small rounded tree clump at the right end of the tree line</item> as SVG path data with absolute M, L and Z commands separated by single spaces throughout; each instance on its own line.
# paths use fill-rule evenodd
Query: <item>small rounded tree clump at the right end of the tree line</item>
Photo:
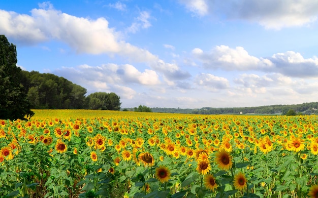
M 115 93 L 96 92 L 87 96 L 88 109 L 119 110 L 120 97 Z

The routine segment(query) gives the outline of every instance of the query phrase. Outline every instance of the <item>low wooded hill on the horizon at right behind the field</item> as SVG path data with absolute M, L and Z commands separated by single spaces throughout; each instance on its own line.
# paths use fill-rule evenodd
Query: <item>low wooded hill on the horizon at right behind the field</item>
M 162 113 L 191 113 L 191 114 L 286 114 L 289 109 L 294 109 L 298 114 L 318 114 L 318 102 L 309 102 L 291 105 L 269 105 L 257 107 L 231 107 L 213 108 L 203 107 L 200 109 L 181 108 L 151 108 L 152 112 Z

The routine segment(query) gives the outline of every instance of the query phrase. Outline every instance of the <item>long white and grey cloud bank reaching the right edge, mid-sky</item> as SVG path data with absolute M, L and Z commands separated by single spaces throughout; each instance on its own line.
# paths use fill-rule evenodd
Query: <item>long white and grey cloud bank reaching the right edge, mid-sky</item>
M 288 51 L 271 57 L 258 58 L 248 54 L 242 47 L 216 46 L 208 52 L 196 48 L 193 56 L 208 69 L 226 71 L 263 71 L 281 73 L 292 77 L 318 77 L 318 58 L 305 59 L 300 53 Z

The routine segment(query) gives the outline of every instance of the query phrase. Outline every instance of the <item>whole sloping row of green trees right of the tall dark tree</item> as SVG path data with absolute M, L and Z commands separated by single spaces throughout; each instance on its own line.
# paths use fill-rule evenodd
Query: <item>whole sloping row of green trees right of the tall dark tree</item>
M 21 84 L 33 109 L 119 110 L 115 93 L 96 92 L 87 97 L 86 89 L 51 73 L 21 71 Z

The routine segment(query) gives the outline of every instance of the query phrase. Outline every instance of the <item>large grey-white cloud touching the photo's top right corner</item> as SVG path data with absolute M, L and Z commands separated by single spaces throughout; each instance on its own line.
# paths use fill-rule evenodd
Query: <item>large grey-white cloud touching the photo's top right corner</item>
M 215 15 L 228 20 L 257 22 L 269 29 L 309 24 L 316 21 L 318 16 L 316 0 L 180 0 L 179 2 L 185 5 L 187 10 L 200 16 Z

